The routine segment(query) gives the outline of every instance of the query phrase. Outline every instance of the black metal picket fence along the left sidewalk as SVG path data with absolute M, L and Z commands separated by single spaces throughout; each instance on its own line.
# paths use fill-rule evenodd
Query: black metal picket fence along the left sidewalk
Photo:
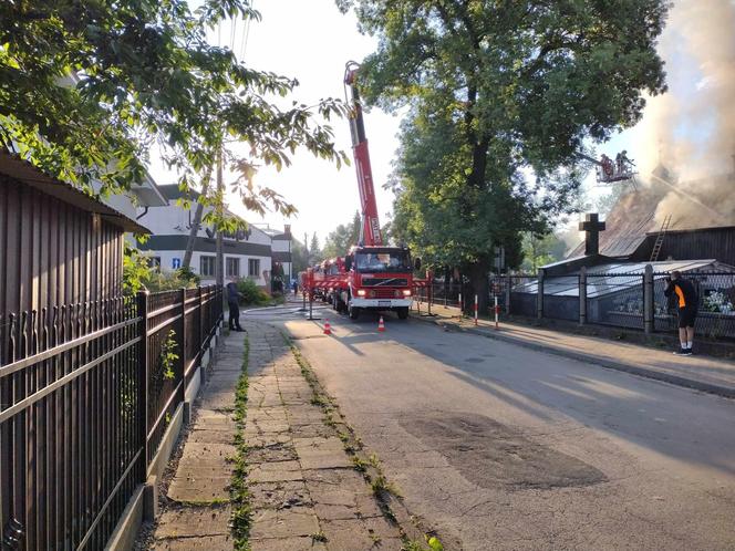
M 221 288 L 0 319 L 2 549 L 102 549 L 222 319 Z

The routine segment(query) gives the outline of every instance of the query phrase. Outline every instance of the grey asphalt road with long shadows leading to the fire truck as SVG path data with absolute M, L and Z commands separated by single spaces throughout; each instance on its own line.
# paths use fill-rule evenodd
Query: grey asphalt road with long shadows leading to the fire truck
M 386 316 L 282 324 L 447 549 L 735 549 L 735 402 Z M 320 313 L 320 311 L 317 311 Z

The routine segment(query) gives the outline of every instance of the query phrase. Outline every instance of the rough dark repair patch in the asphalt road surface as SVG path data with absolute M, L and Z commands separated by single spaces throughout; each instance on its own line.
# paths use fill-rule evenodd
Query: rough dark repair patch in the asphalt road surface
M 482 415 L 429 414 L 401 425 L 483 488 L 566 488 L 607 480 L 591 465 Z

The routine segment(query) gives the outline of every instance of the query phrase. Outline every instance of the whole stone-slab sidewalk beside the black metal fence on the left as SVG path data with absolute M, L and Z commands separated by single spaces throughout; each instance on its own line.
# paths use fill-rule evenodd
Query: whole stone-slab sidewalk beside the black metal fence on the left
M 244 438 L 252 551 L 400 550 L 385 517 L 324 404 L 281 333 L 246 323 L 248 396 Z M 231 333 L 203 392 L 196 420 L 167 490 L 151 549 L 236 548 L 230 485 L 238 461 L 235 389 L 245 334 Z M 242 522 L 238 519 L 235 522 Z M 240 527 L 242 528 L 242 527 Z

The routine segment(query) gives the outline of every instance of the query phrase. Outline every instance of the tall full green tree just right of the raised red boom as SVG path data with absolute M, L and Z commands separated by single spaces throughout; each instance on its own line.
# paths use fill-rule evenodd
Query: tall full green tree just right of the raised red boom
M 408 106 L 395 235 L 460 267 L 483 309 L 495 247 L 518 266 L 521 232 L 572 210 L 586 142 L 638 122 L 643 90 L 665 90 L 665 0 L 338 6 L 379 39 L 360 70 L 365 102 Z

